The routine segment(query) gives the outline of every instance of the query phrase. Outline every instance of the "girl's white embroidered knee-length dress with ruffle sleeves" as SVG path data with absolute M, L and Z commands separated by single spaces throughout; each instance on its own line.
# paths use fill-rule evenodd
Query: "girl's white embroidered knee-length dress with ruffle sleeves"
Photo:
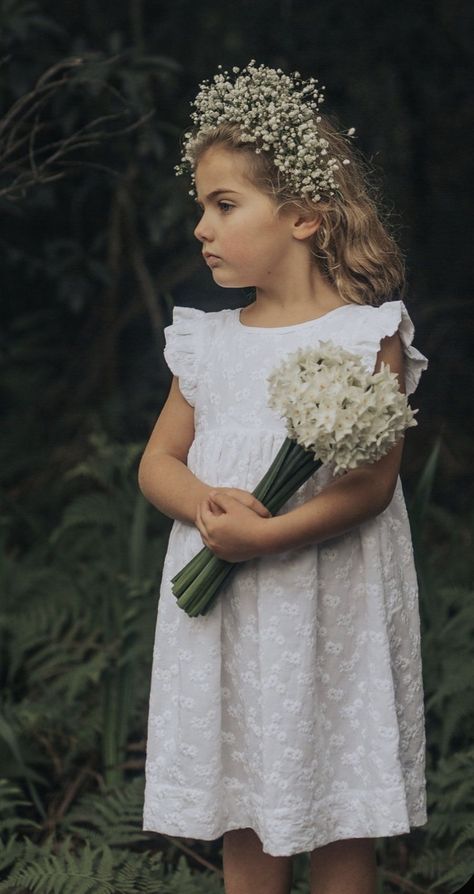
M 406 388 L 427 361 L 400 301 L 344 305 L 294 326 L 175 307 L 165 358 L 194 407 L 188 467 L 252 491 L 286 436 L 266 377 L 330 339 L 372 370 L 398 329 Z M 331 478 L 321 468 L 282 511 Z M 175 521 L 164 562 L 150 694 L 144 828 L 212 840 L 253 829 L 266 853 L 407 832 L 426 822 L 418 592 L 400 481 L 389 507 L 320 545 L 243 563 L 209 614 L 170 579 L 202 548 Z

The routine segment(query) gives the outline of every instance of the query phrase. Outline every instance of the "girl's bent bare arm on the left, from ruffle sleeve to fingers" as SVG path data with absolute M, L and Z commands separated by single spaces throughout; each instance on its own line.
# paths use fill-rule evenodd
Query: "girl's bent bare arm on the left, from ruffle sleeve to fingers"
M 170 393 L 150 435 L 138 468 L 138 484 L 146 499 L 169 518 L 195 524 L 199 504 L 212 490 L 232 496 L 252 515 L 268 518 L 268 510 L 248 491 L 212 488 L 188 469 L 194 438 L 194 410 L 173 376 Z

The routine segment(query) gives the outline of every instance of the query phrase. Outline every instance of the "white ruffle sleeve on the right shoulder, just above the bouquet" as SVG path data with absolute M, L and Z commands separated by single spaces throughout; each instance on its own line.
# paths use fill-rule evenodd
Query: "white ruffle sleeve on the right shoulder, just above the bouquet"
M 379 307 L 366 307 L 367 318 L 358 331 L 358 347 L 367 367 L 373 370 L 380 342 L 398 332 L 405 355 L 405 388 L 412 394 L 428 366 L 427 358 L 413 347 L 415 327 L 403 301 L 387 301 Z

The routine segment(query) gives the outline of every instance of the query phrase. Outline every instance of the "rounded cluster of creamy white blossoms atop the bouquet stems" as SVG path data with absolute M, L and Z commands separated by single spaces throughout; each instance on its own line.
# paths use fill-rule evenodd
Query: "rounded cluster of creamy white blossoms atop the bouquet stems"
M 416 425 L 390 367 L 370 373 L 360 357 L 330 341 L 299 348 L 268 377 L 269 406 L 293 438 L 335 474 L 384 456 Z

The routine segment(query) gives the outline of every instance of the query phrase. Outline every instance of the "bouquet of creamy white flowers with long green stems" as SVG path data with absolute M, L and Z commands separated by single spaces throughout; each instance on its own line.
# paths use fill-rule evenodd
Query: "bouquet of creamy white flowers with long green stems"
M 416 425 L 388 366 L 370 373 L 330 341 L 299 348 L 267 381 L 269 406 L 285 419 L 287 437 L 253 495 L 272 515 L 323 463 L 339 475 L 375 462 Z M 180 608 L 205 614 L 234 567 L 204 547 L 172 578 Z

